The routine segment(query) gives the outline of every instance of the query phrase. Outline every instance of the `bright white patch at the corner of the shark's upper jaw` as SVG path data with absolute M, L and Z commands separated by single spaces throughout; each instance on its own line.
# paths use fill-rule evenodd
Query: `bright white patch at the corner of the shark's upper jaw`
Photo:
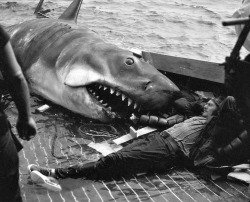
M 100 80 L 100 74 L 92 69 L 84 69 L 81 67 L 72 68 L 67 74 L 64 84 L 71 87 L 87 86 L 93 82 Z

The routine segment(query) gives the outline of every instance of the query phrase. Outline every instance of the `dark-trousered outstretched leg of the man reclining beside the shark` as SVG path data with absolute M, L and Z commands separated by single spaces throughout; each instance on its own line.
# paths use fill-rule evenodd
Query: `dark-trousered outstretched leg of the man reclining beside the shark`
M 115 178 L 170 167 L 174 158 L 164 139 L 159 134 L 152 134 L 97 162 L 56 168 L 53 172 L 59 178 Z

